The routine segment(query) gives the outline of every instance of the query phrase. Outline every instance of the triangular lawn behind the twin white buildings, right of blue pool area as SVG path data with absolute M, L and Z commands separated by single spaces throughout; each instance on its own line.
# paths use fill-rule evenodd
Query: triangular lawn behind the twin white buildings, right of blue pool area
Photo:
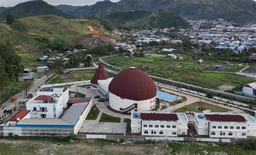
M 176 109 L 175 112 L 186 112 L 186 111 L 203 112 L 203 110 L 211 110 L 212 112 L 227 112 L 228 111 L 228 109 L 217 107 L 217 106 L 207 104 L 204 102 L 195 102 L 190 105 L 186 105 L 183 108 Z

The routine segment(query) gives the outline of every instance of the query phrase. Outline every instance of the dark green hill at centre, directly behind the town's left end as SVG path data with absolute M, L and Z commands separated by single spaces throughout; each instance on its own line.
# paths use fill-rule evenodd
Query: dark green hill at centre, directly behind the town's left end
M 114 12 L 106 17 L 112 23 L 116 23 L 120 28 L 149 28 L 154 29 L 156 27 L 176 27 L 185 29 L 190 27 L 189 23 L 182 17 L 175 13 L 158 11 L 127 11 L 127 12 Z

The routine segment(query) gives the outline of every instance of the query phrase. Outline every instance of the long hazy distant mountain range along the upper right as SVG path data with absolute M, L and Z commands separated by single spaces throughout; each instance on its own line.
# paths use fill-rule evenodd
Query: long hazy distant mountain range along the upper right
M 95 14 L 104 17 L 113 12 L 136 10 L 164 10 L 188 19 L 224 18 L 238 24 L 256 21 L 256 2 L 252 0 L 122 0 L 83 6 L 72 12 L 72 15 L 80 16 L 82 11 L 84 17 Z

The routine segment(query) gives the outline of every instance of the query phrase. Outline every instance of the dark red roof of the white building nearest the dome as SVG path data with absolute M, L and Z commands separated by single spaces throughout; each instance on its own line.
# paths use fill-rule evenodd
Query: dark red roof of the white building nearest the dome
M 140 118 L 143 120 L 159 120 L 159 121 L 178 121 L 177 114 L 140 114 Z

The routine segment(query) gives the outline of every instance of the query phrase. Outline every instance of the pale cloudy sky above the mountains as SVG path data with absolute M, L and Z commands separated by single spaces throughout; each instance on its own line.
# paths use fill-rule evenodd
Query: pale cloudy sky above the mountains
M 0 0 L 0 6 L 14 6 L 21 2 L 26 2 L 28 0 Z M 58 4 L 68 4 L 68 5 L 91 5 L 98 1 L 104 0 L 44 0 L 45 2 L 58 5 Z M 112 2 L 118 2 L 119 0 L 111 0 Z

